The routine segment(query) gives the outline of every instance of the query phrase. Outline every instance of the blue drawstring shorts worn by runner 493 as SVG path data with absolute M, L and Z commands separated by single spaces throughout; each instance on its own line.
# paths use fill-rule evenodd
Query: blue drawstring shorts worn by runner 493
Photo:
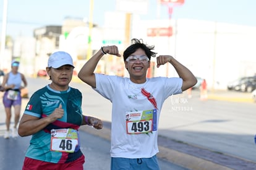
M 113 158 L 111 157 L 111 170 L 160 170 L 156 155 L 151 158 Z

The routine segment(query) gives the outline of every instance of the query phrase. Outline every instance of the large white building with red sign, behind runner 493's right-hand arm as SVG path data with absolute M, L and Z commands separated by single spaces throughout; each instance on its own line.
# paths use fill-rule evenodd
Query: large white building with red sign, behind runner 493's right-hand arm
M 209 89 L 226 89 L 228 82 L 256 73 L 256 27 L 190 19 L 134 19 L 132 25 L 132 37 L 176 57 Z M 153 75 L 178 77 L 168 64 L 153 67 Z

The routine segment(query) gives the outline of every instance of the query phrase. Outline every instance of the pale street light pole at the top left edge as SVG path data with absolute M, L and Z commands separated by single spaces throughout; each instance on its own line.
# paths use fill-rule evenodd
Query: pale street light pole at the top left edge
M 7 23 L 7 0 L 4 0 L 4 6 L 2 11 L 2 38 L 1 38 L 1 53 L 0 53 L 0 60 L 4 57 L 4 51 L 6 48 L 6 23 Z M 1 62 L 0 62 L 1 68 Z

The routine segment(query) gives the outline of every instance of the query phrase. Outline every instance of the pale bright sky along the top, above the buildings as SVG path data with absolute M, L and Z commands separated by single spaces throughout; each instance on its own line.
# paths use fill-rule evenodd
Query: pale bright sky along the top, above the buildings
M 93 23 L 103 26 L 105 13 L 116 11 L 116 1 L 94 0 Z M 162 4 L 158 11 L 157 1 L 148 0 L 147 14 L 141 14 L 141 19 L 168 19 L 168 4 Z M 7 2 L 6 35 L 14 38 L 33 36 L 33 29 L 46 25 L 62 25 L 66 17 L 88 19 L 90 13 L 90 0 L 7 0 Z M 4 0 L 0 0 L 0 33 L 2 33 L 3 6 Z M 173 7 L 171 18 L 256 27 L 255 7 L 255 0 L 185 0 L 181 6 Z

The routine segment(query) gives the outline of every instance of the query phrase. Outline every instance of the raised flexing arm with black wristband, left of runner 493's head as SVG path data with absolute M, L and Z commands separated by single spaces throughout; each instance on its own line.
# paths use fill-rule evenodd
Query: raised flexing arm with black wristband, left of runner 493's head
M 118 52 L 117 46 L 104 46 L 103 51 L 108 54 L 113 54 L 116 56 L 121 56 Z M 103 53 L 101 49 L 94 54 L 82 67 L 82 69 L 79 71 L 78 77 L 83 82 L 87 83 L 93 88 L 96 88 L 96 80 L 95 80 L 95 74 L 94 70 L 100 61 L 101 57 L 103 57 Z

